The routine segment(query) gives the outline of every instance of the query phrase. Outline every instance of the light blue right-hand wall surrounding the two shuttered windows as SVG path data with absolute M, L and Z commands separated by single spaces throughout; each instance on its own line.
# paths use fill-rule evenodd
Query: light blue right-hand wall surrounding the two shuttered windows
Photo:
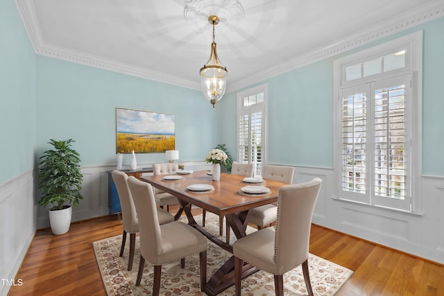
M 251 85 L 268 83 L 268 162 L 332 168 L 333 61 L 419 30 L 424 32 L 422 174 L 444 175 L 444 17 Z M 217 105 L 220 141 L 233 154 L 236 120 L 225 120 L 236 112 L 236 93 L 226 94 Z

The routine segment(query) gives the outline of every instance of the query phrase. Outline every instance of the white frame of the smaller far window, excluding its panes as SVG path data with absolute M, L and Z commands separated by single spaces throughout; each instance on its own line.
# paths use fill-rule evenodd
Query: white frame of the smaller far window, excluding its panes
M 256 94 L 264 94 L 264 101 L 261 103 L 256 103 L 254 105 L 244 106 L 243 100 L 246 96 L 253 96 Z M 261 175 L 264 168 L 264 164 L 266 164 L 268 160 L 268 84 L 258 85 L 257 87 L 253 87 L 250 89 L 246 89 L 242 92 L 237 93 L 237 117 L 236 117 L 236 126 L 237 126 L 237 153 L 236 159 L 237 162 L 239 160 L 240 148 L 241 145 L 239 143 L 239 117 L 244 115 L 249 115 L 262 112 L 262 143 L 261 143 Z M 250 142 L 250 141 L 249 141 Z M 250 149 L 249 149 L 250 151 Z M 249 155 L 249 159 L 251 160 L 251 155 Z M 249 163 L 250 163 L 249 160 Z

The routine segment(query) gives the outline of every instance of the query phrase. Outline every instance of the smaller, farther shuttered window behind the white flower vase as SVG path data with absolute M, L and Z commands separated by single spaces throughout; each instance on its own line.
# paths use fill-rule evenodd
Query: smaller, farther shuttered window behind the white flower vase
M 266 98 L 267 85 L 237 94 L 237 161 L 253 164 L 253 175 L 262 175 L 262 162 L 266 151 Z

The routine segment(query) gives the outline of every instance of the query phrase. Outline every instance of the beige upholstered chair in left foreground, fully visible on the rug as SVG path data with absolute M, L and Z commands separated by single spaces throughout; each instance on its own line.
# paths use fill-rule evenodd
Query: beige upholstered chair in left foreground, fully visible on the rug
M 153 295 L 160 292 L 162 264 L 180 259 L 185 268 L 185 257 L 199 254 L 200 290 L 207 282 L 207 238 L 193 227 L 180 221 L 160 225 L 151 184 L 128 177 L 128 186 L 133 195 L 139 217 L 140 263 L 136 286 L 140 285 L 145 260 L 153 265 Z

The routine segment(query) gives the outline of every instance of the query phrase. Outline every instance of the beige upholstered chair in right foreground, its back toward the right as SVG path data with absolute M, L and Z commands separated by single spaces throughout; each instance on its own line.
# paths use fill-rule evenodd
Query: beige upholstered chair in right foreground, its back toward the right
M 308 294 L 313 295 L 308 270 L 309 238 L 321 184 L 321 179 L 314 178 L 306 183 L 282 186 L 275 231 L 261 229 L 233 243 L 236 295 L 241 295 L 244 262 L 274 275 L 276 295 L 284 295 L 283 274 L 302 264 L 305 286 Z

